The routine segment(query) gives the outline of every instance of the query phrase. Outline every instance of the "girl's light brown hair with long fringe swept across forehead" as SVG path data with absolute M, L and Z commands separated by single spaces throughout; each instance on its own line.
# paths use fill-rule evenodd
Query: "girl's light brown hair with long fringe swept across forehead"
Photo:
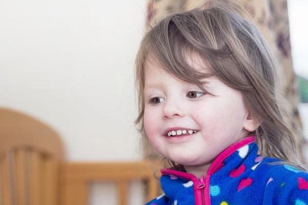
M 208 72 L 191 66 L 189 60 L 196 54 L 206 62 Z M 234 7 L 211 5 L 207 9 L 171 14 L 145 34 L 136 59 L 136 124 L 144 143 L 144 67 L 149 58 L 169 74 L 201 89 L 202 79 L 215 76 L 240 91 L 247 110 L 261 122 L 257 130 L 248 134 L 256 136 L 261 154 L 305 170 L 297 153 L 296 138 L 279 108 L 283 100 L 278 97 L 280 88 L 273 56 L 258 29 Z

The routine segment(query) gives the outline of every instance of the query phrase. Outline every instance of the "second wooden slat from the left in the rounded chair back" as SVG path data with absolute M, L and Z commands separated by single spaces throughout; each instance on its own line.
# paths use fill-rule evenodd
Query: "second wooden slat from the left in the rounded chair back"
M 26 151 L 17 150 L 15 153 L 16 173 L 16 203 L 26 205 Z

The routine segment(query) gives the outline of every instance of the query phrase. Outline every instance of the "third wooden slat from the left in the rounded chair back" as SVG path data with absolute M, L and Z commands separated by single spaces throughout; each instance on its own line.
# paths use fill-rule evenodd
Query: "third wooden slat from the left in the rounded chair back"
M 41 205 L 41 157 L 34 151 L 30 153 L 30 165 L 30 202 L 31 205 Z

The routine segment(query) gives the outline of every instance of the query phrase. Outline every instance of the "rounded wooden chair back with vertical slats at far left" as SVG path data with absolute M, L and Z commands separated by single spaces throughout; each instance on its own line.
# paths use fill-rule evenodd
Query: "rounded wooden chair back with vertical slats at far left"
M 59 136 L 37 119 L 0 109 L 2 205 L 59 204 Z

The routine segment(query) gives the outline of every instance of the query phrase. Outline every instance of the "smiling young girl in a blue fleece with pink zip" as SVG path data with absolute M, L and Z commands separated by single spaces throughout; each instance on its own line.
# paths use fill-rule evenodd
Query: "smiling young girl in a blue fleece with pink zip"
M 308 204 L 276 75 L 259 31 L 233 9 L 172 14 L 146 33 L 137 124 L 175 165 L 147 204 Z

